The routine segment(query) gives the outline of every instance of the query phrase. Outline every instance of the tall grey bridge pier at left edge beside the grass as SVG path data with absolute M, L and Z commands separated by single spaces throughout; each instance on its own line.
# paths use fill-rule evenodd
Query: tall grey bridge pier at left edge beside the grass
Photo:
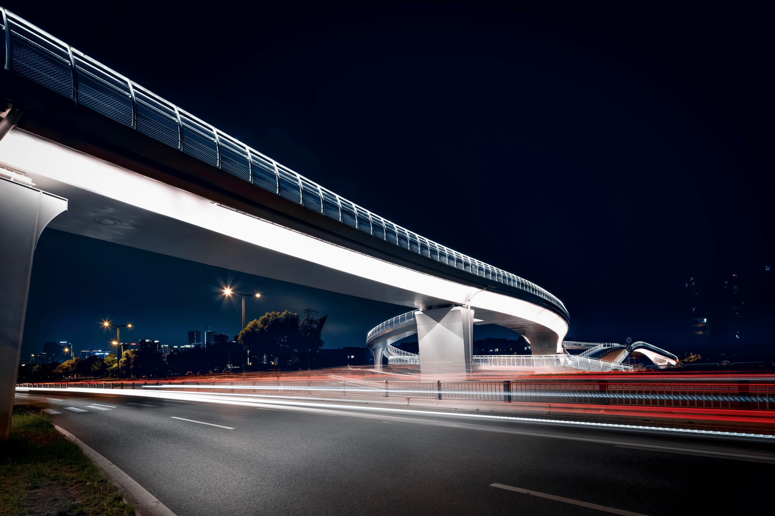
M 8 439 L 22 331 L 27 310 L 29 275 L 43 228 L 67 210 L 67 200 L 0 179 L 0 439 Z

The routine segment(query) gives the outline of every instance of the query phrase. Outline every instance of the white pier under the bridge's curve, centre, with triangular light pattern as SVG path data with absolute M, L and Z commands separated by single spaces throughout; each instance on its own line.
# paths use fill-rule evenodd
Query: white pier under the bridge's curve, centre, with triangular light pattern
M 415 312 L 420 373 L 465 380 L 471 372 L 474 310 L 464 306 Z

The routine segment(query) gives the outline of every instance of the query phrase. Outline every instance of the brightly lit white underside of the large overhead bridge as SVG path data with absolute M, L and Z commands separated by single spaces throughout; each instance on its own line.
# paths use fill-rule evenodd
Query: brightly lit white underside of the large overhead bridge
M 0 141 L 0 166 L 68 200 L 49 224 L 62 231 L 415 309 L 469 305 L 547 353 L 567 333 L 541 306 L 332 244 L 18 128 Z

